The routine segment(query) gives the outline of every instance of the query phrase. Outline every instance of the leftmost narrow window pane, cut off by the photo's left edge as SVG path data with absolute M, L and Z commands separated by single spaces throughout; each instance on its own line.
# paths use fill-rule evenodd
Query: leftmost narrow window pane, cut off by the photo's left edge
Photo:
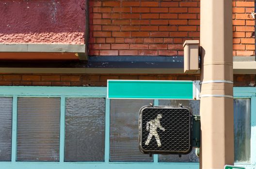
M 11 161 L 13 98 L 0 98 L 0 161 Z

